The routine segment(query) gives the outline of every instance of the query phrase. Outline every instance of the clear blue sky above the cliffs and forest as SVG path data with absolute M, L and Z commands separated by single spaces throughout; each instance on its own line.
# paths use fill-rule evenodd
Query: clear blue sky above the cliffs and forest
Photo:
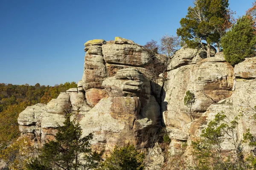
M 0 83 L 78 82 L 84 42 L 176 34 L 193 0 L 0 0 Z M 239 16 L 253 0 L 229 0 Z

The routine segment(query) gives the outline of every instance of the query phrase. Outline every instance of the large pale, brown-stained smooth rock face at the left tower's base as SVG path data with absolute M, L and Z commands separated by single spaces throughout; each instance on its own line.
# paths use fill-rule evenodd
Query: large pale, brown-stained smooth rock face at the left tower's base
M 103 98 L 79 123 L 83 135 L 93 132 L 93 143 L 104 142 L 105 149 L 110 150 L 115 143 L 130 141 L 136 144 L 132 127 L 139 111 L 137 97 Z

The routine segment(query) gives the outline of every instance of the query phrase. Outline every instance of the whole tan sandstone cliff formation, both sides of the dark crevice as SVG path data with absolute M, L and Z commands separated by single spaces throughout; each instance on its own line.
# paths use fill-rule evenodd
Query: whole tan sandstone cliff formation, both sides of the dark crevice
M 152 57 L 141 45 L 116 37 L 90 40 L 84 51 L 84 74 L 77 88 L 61 93 L 47 105 L 29 106 L 20 113 L 22 134 L 42 146 L 54 139 L 67 112 L 80 123 L 83 135 L 94 134 L 92 144 L 107 152 L 119 143 L 149 148 L 151 169 L 160 169 L 163 153 L 157 143 L 160 127 L 171 139 L 169 153 L 200 136 L 201 129 L 215 114 L 230 117 L 243 113 L 239 136 L 250 127 L 256 105 L 256 58 L 248 58 L 233 68 L 222 52 L 207 58 L 201 45 L 186 45 L 175 53 L 167 74 L 152 79 Z M 186 91 L 195 94 L 191 121 L 184 105 Z M 154 149 L 151 149 L 154 147 Z M 227 144 L 228 149 L 228 144 Z M 189 146 L 188 146 L 189 149 Z

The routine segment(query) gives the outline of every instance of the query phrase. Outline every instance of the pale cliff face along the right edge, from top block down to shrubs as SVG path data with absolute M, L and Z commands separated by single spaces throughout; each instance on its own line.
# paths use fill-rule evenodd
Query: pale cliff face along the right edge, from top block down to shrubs
M 238 119 L 238 140 L 241 141 L 243 134 L 250 128 L 252 134 L 256 133 L 256 125 L 253 116 L 256 111 L 256 62 L 255 57 L 248 58 L 244 62 L 235 65 L 234 68 L 234 87 L 232 96 L 223 99 L 216 104 L 211 105 L 205 113 L 203 119 L 193 122 L 191 133 L 194 136 L 199 136 L 201 128 L 205 127 L 210 120 L 213 120 L 217 113 L 223 112 L 230 121 L 234 120 L 236 116 Z M 233 145 L 230 143 L 230 138 L 226 136 L 223 144 L 223 149 L 233 150 Z M 244 145 L 244 151 L 250 153 L 251 148 Z

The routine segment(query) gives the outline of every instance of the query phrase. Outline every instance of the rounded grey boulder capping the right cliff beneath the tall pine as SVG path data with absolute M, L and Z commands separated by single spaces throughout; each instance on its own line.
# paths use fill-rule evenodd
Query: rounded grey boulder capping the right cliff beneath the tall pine
M 203 46 L 204 49 L 201 48 L 201 45 L 199 45 L 198 48 L 192 49 L 184 45 L 175 53 L 167 69 L 173 70 L 183 65 L 196 64 L 202 59 L 207 58 L 207 48 L 205 44 L 203 44 Z M 211 55 L 215 53 L 216 49 L 211 46 Z

